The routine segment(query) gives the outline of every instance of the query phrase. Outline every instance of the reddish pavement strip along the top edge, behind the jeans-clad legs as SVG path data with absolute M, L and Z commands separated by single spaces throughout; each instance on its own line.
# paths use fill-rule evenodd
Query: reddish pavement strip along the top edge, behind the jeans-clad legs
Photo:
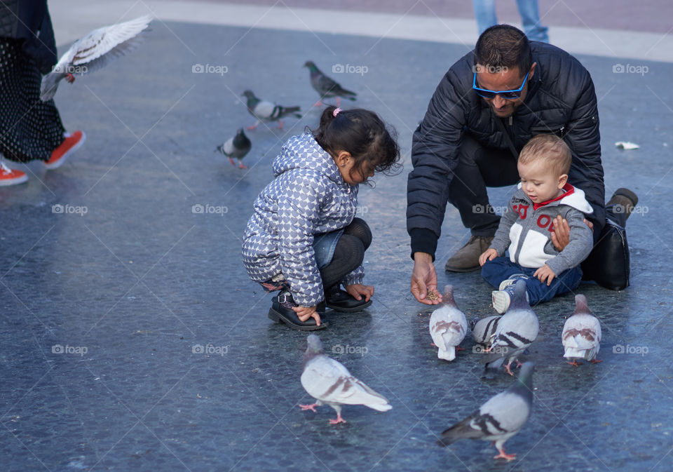
M 400 13 L 448 18 L 474 18 L 470 0 L 206 0 L 218 4 L 278 5 L 328 10 Z M 520 22 L 515 0 L 498 0 L 501 22 Z M 540 0 L 540 15 L 547 26 L 623 29 L 669 33 L 673 31 L 671 0 Z M 475 24 L 476 29 L 476 24 Z

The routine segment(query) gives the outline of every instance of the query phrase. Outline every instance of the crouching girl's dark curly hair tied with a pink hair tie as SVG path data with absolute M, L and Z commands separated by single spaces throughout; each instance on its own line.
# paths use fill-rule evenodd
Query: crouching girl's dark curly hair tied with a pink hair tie
M 351 174 L 364 173 L 364 166 L 385 175 L 395 175 L 402 169 L 400 147 L 397 145 L 397 133 L 379 116 L 362 108 L 340 110 L 334 116 L 336 107 L 329 106 L 320 116 L 320 126 L 311 130 L 313 137 L 332 156 L 346 151 L 355 161 Z

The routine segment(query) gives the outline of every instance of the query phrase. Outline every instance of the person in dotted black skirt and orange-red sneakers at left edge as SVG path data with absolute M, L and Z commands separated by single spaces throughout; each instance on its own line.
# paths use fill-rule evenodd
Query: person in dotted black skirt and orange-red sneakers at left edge
M 10 161 L 41 159 L 60 167 L 83 144 L 81 131 L 66 133 L 53 100 L 40 100 L 42 74 L 57 62 L 46 0 L 0 3 L 0 153 Z M 28 176 L 0 161 L 0 186 Z

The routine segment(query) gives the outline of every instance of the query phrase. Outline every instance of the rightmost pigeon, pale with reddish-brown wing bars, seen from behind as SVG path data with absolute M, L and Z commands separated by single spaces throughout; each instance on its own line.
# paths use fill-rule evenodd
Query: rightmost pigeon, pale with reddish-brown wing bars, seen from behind
M 578 359 L 601 362 L 596 360 L 601 349 L 601 323 L 592 315 L 584 295 L 575 295 L 575 313 L 563 325 L 561 339 L 566 350 L 564 358 L 573 360 L 570 365 L 579 365 Z

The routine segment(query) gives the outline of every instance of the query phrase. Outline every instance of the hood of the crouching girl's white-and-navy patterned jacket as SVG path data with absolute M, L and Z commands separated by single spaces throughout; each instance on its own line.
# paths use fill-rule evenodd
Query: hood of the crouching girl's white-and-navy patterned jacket
M 273 160 L 273 177 L 293 169 L 310 169 L 327 175 L 337 184 L 345 184 L 337 163 L 320 147 L 311 133 L 292 136 Z

